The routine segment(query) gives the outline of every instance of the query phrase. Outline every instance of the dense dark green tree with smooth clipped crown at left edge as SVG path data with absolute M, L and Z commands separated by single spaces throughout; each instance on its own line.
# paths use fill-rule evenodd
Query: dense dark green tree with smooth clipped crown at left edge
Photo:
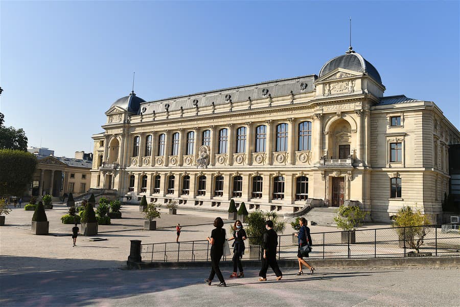
M 0 149 L 0 196 L 20 196 L 32 182 L 37 158 L 27 151 Z

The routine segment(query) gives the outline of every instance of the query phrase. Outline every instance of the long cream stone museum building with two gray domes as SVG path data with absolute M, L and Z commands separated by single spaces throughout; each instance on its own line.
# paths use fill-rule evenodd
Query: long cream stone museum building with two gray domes
M 318 75 L 154 101 L 131 92 L 93 135 L 90 186 L 181 208 L 357 204 L 375 222 L 410 205 L 440 221 L 460 133 L 432 101 L 384 91 L 350 47 Z

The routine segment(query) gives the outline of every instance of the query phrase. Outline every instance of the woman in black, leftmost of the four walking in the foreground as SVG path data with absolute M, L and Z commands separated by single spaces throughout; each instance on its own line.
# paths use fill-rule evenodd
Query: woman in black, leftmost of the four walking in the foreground
M 209 278 L 204 279 L 208 286 L 211 286 L 211 282 L 213 281 L 214 275 L 217 274 L 217 278 L 219 278 L 220 283 L 217 285 L 218 287 L 227 287 L 225 280 L 223 279 L 222 272 L 219 268 L 220 258 L 223 255 L 223 244 L 225 243 L 225 229 L 223 229 L 223 221 L 222 218 L 216 217 L 214 220 L 214 228 L 211 232 L 211 237 L 206 237 L 208 242 L 211 244 L 211 262 L 212 268 L 211 273 L 209 274 Z

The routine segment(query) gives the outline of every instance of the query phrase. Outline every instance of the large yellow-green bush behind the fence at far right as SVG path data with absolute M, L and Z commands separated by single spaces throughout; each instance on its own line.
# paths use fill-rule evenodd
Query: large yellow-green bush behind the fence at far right
M 419 254 L 423 239 L 430 231 L 429 225 L 428 216 L 423 214 L 420 209 L 413 211 L 409 206 L 399 209 L 393 223 L 393 227 L 398 233 L 399 247 L 415 249 L 415 253 Z M 413 254 L 413 252 L 409 253 Z M 431 255 L 431 253 L 428 254 Z

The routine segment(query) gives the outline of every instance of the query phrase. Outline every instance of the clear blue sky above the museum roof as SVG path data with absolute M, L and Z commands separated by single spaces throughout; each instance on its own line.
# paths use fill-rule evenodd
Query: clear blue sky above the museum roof
M 352 46 L 385 96 L 434 101 L 460 126 L 460 2 L 0 2 L 0 112 L 30 146 L 92 150 L 104 112 L 318 74 Z

